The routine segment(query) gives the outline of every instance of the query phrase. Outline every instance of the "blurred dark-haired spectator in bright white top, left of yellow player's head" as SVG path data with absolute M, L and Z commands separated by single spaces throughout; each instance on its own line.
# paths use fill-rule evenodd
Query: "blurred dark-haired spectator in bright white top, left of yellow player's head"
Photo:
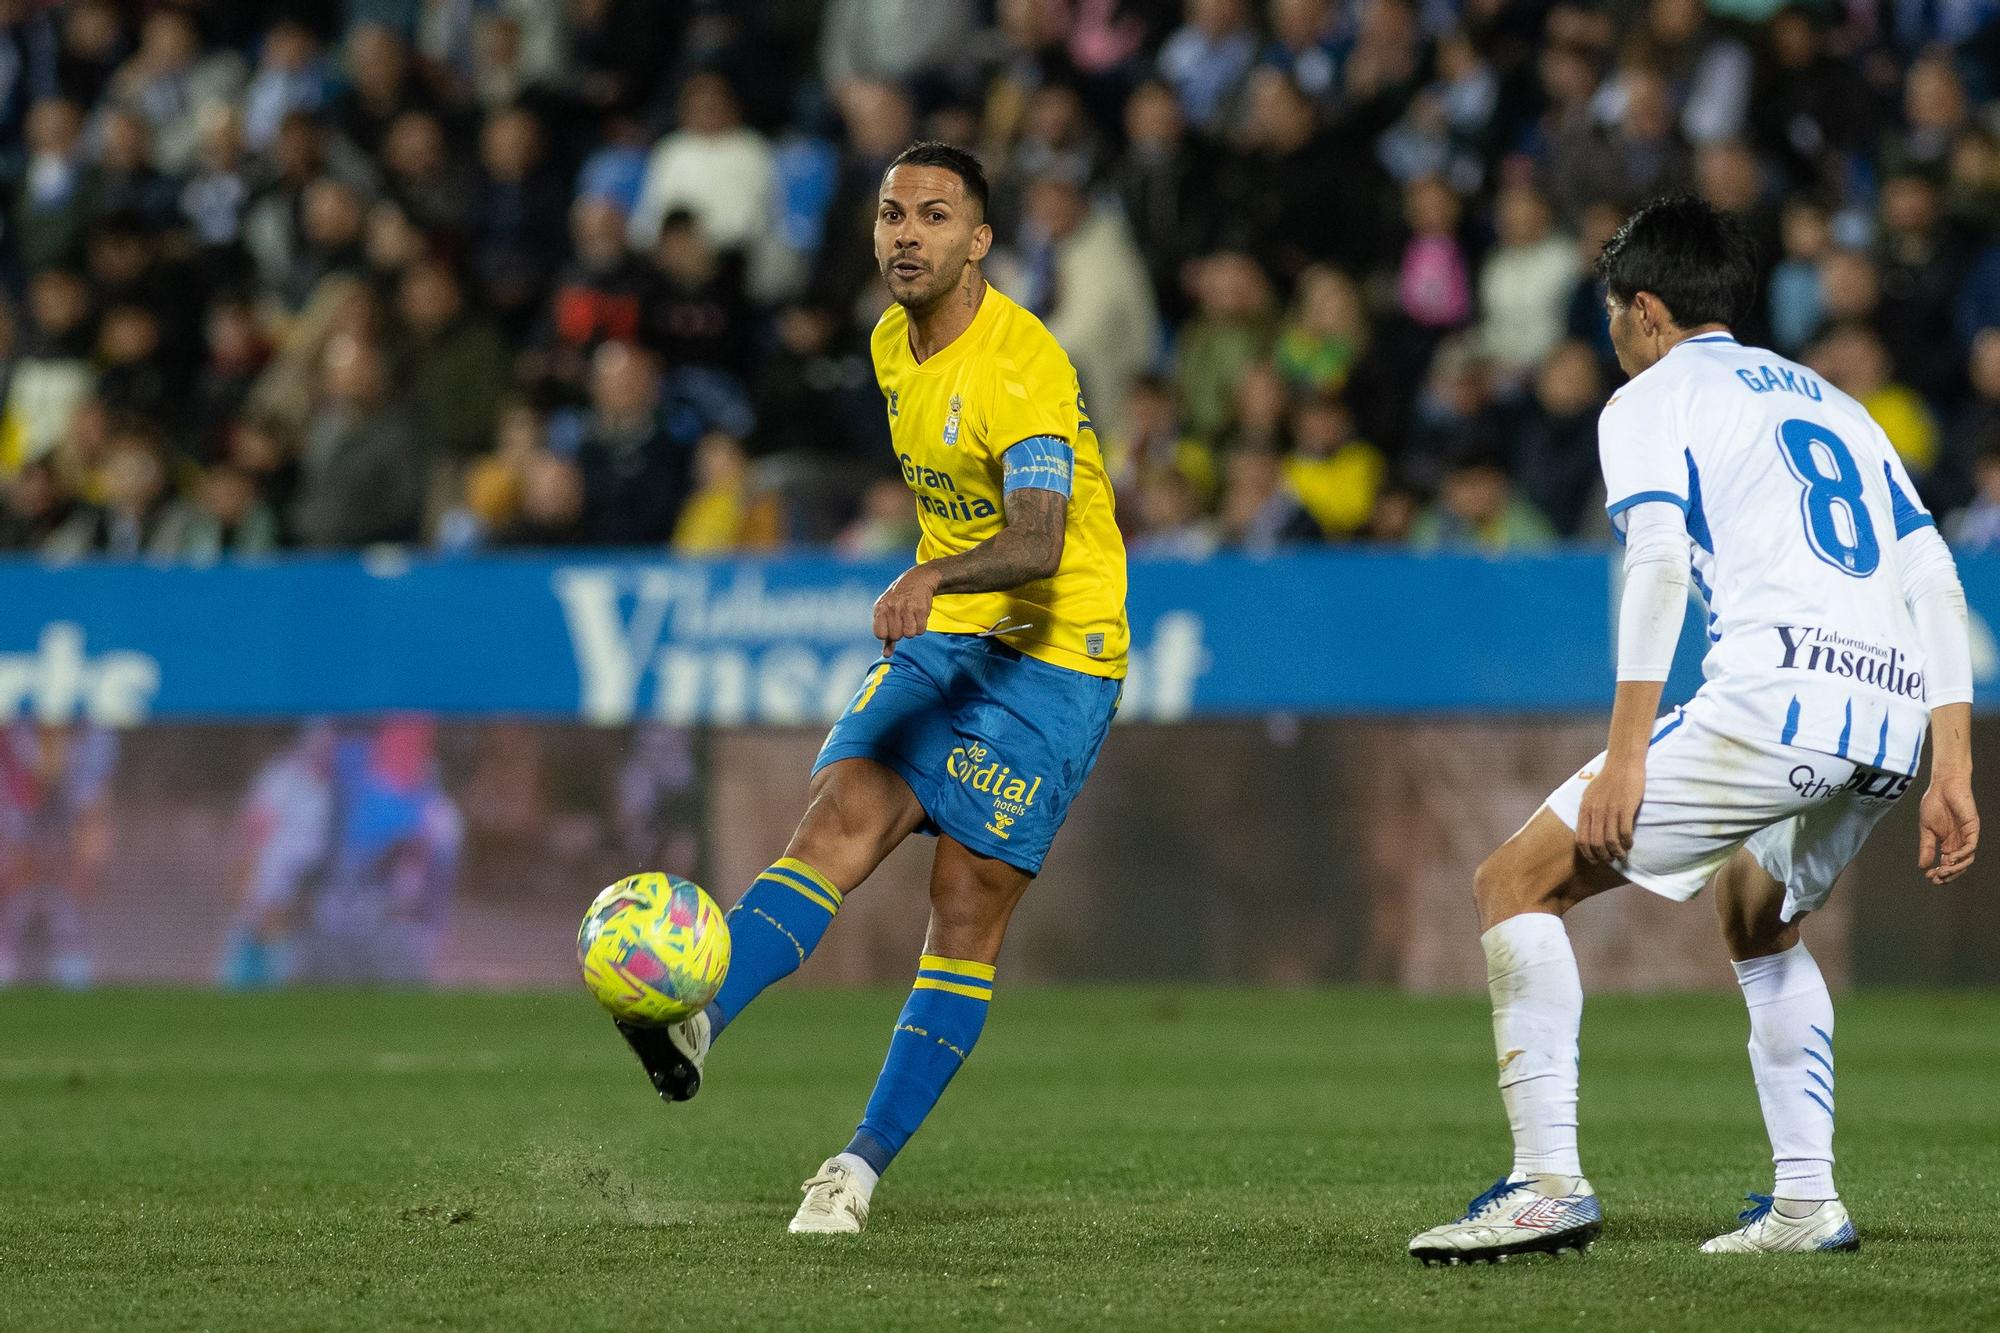
M 744 124 L 728 80 L 694 74 L 680 90 L 680 128 L 646 162 L 632 246 L 650 250 L 666 214 L 684 208 L 710 244 L 750 252 L 770 230 L 774 188 L 770 142 Z

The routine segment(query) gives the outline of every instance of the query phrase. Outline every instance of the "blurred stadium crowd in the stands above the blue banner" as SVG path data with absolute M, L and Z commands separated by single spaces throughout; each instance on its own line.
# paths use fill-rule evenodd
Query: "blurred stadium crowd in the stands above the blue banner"
M 2000 546 L 1994 0 L 0 0 L 0 548 L 904 552 L 916 136 L 1138 552 L 1600 538 L 1664 190 Z

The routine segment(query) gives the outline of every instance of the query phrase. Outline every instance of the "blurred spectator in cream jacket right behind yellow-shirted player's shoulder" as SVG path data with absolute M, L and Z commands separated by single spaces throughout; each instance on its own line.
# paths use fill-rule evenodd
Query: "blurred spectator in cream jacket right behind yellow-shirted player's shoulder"
M 1152 364 L 1160 336 L 1146 264 L 1118 210 L 1092 202 L 1076 176 L 1044 174 L 1028 188 L 1020 240 L 992 272 L 1056 334 L 1092 420 L 1116 432 L 1132 376 Z

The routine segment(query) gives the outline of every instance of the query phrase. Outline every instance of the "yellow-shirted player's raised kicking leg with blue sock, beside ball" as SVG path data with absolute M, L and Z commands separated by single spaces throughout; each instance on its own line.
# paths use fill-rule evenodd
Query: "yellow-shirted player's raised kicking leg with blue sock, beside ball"
M 784 857 L 730 909 L 730 973 L 716 999 L 670 1027 L 618 1025 L 660 1097 L 688 1101 L 700 1091 L 710 1043 L 812 957 L 842 899 L 922 821 L 910 785 L 886 765 L 842 759 L 812 775 L 812 801 Z

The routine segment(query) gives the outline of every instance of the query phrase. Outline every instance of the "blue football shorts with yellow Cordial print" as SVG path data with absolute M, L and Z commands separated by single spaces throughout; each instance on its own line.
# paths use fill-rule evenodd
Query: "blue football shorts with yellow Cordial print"
M 998 638 L 932 630 L 868 669 L 812 771 L 886 765 L 924 807 L 920 833 L 1036 875 L 1104 749 L 1122 685 Z

